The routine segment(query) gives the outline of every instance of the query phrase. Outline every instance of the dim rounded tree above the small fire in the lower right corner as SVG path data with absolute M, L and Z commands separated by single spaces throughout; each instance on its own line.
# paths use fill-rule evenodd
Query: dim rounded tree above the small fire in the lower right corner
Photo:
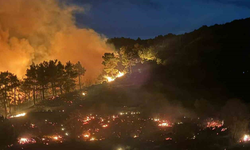
M 230 136 L 237 141 L 247 132 L 249 112 L 244 103 L 239 99 L 231 99 L 222 108 L 221 116 L 228 126 Z

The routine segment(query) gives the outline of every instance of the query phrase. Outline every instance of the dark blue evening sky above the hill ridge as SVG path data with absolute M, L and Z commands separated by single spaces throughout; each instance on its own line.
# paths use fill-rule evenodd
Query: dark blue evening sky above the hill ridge
M 153 38 L 250 17 L 250 0 L 70 0 L 77 25 L 111 37 Z

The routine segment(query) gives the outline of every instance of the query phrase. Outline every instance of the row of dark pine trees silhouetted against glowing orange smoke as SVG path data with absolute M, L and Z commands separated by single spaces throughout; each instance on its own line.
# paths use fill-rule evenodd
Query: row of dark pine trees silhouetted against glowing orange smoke
M 5 117 L 11 113 L 8 107 L 18 105 L 26 100 L 44 100 L 46 97 L 68 93 L 76 89 L 76 82 L 81 90 L 81 77 L 86 70 L 81 63 L 70 61 L 62 64 L 58 60 L 32 63 L 26 70 L 26 75 L 19 80 L 8 71 L 0 73 L 0 98 L 5 109 Z

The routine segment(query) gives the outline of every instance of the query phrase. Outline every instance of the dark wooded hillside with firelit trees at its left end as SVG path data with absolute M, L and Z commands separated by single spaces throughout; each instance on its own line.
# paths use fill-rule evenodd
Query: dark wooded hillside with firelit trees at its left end
M 108 43 L 115 46 L 116 52 L 105 57 L 117 55 L 118 62 L 113 63 L 113 68 L 125 68 L 129 72 L 135 64 L 136 69 L 145 68 L 147 65 L 141 63 L 146 60 L 154 74 L 148 81 L 152 89 L 157 89 L 154 85 L 159 83 L 159 90 L 167 89 L 166 86 L 181 88 L 183 92 L 179 95 L 186 98 L 185 92 L 196 98 L 213 99 L 223 95 L 247 100 L 250 97 L 249 25 L 250 18 L 154 39 L 112 38 Z

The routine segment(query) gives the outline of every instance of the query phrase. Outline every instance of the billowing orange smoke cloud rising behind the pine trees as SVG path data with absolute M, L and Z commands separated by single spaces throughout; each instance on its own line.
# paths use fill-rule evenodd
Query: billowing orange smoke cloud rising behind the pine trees
M 0 71 L 21 78 L 31 62 L 58 59 L 80 61 L 85 79 L 96 78 L 102 55 L 111 48 L 94 30 L 78 28 L 75 12 L 84 8 L 57 0 L 0 0 Z

